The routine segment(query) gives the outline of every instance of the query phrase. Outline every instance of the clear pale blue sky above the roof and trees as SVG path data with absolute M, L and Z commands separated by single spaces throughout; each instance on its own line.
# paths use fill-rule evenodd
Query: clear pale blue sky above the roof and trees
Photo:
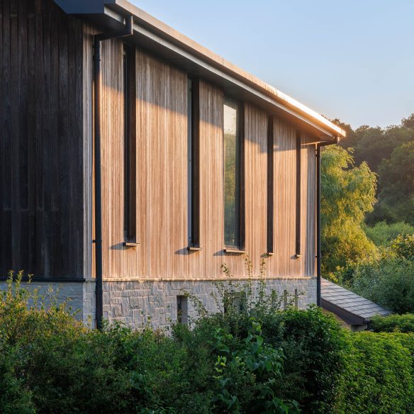
M 414 0 L 130 0 L 354 128 L 414 112 Z

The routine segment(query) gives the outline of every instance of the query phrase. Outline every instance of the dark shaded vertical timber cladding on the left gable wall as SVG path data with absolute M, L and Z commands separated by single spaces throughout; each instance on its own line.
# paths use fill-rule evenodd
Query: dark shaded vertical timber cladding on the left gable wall
M 0 272 L 83 276 L 82 22 L 0 1 Z

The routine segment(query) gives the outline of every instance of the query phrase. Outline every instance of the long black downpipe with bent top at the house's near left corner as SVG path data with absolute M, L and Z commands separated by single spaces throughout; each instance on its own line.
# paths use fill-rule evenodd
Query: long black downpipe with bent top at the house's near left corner
M 95 135 L 95 278 L 96 328 L 102 329 L 104 301 L 102 291 L 102 185 L 101 185 L 101 90 L 102 41 L 133 35 L 133 16 L 125 17 L 125 28 L 94 35 L 94 135 Z

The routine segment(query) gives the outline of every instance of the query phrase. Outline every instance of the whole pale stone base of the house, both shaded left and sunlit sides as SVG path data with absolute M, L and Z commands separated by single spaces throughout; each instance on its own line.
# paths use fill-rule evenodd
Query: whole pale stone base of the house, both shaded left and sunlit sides
M 233 281 L 244 284 L 245 281 Z M 43 294 L 52 286 L 57 292 L 58 301 L 69 298 L 69 306 L 78 311 L 77 318 L 88 326 L 95 321 L 95 283 L 93 279 L 83 282 L 32 282 L 23 283 L 27 289 L 39 289 Z M 316 279 L 267 279 L 267 292 L 274 290 L 283 296 L 284 291 L 294 296 L 298 293 L 298 307 L 306 308 L 316 303 Z M 6 282 L 0 281 L 4 290 Z M 209 312 L 221 312 L 215 299 L 218 289 L 212 281 L 104 281 L 104 318 L 109 323 L 119 320 L 131 328 L 140 329 L 145 325 L 153 328 L 166 328 L 171 320 L 177 319 L 177 296 L 190 293 L 196 296 Z M 258 281 L 252 281 L 253 292 L 257 293 Z M 236 289 L 237 290 L 237 289 Z M 197 317 L 196 308 L 188 300 L 189 320 Z

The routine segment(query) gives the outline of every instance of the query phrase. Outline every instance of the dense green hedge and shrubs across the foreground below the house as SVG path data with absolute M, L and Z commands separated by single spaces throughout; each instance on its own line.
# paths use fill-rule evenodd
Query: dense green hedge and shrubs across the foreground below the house
M 99 332 L 10 281 L 0 300 L 1 412 L 410 413 L 412 334 L 346 332 L 319 308 L 281 310 L 263 284 L 221 291 L 227 312 L 201 307 L 191 330 Z

